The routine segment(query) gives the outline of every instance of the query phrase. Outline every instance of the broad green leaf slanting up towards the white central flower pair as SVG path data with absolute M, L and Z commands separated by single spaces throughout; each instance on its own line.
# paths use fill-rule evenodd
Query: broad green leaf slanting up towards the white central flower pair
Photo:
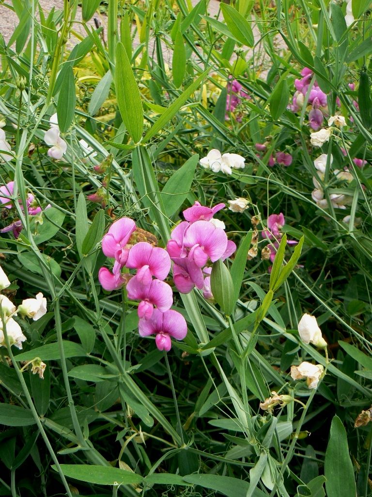
M 160 196 L 168 217 L 178 212 L 189 194 L 198 160 L 197 154 L 190 157 L 166 182 Z

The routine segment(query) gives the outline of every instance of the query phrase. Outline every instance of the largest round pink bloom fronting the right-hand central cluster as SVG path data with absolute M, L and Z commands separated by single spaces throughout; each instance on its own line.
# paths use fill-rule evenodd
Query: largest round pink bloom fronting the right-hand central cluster
M 185 232 L 184 246 L 190 248 L 188 258 L 198 267 L 205 266 L 208 257 L 212 262 L 220 259 L 227 248 L 227 236 L 221 228 L 208 221 L 196 221 Z

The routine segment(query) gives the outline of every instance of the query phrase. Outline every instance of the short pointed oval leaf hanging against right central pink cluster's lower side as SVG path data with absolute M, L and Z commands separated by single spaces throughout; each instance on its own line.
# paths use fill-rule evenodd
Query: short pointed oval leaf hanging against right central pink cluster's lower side
M 213 297 L 226 316 L 231 316 L 234 311 L 234 284 L 231 274 L 221 259 L 213 263 L 210 275 Z

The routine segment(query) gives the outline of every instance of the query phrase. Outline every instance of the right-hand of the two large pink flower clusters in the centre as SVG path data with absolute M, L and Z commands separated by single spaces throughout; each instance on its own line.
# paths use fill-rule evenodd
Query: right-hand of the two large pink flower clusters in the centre
M 213 218 L 224 207 L 209 208 L 195 202 L 183 212 L 186 221 L 173 230 L 167 250 L 174 262 L 173 279 L 179 292 L 188 293 L 196 286 L 205 298 L 212 298 L 210 263 L 225 260 L 236 250 L 224 232 L 225 225 Z

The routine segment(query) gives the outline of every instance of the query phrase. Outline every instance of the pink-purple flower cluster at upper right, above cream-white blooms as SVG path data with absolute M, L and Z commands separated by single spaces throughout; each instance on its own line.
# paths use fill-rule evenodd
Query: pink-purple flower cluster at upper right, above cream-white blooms
M 298 112 L 302 109 L 305 96 L 308 94 L 308 108 L 310 128 L 317 131 L 323 124 L 324 117 L 328 114 L 327 95 L 320 89 L 316 80 L 311 83 L 313 73 L 311 69 L 305 67 L 301 71 L 302 78 L 295 80 L 296 92 L 293 95 L 290 109 Z M 309 91 L 310 90 L 310 91 Z

